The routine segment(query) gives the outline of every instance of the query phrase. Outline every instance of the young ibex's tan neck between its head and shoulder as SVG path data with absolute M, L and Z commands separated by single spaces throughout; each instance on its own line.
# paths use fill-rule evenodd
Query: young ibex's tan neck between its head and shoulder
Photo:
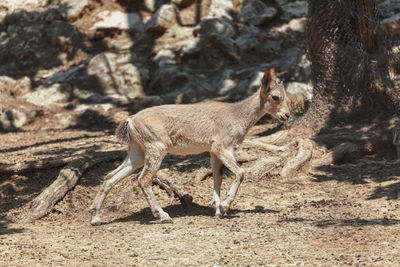
M 266 113 L 262 108 L 263 103 L 258 90 L 250 97 L 234 103 L 237 119 L 242 124 L 245 132 L 250 129 Z

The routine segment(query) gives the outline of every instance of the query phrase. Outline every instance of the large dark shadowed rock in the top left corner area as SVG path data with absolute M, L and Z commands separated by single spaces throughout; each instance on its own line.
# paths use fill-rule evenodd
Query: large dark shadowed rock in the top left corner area
M 83 34 L 55 9 L 14 12 L 3 20 L 2 29 L 10 32 L 3 33 L 0 45 L 0 62 L 7 62 L 0 65 L 1 75 L 34 77 L 84 54 Z

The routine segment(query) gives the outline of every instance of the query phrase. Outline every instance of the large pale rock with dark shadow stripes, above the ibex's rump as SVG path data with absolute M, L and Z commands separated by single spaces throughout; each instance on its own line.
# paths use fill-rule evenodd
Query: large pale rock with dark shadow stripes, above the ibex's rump
M 133 99 L 143 95 L 142 80 L 147 80 L 149 71 L 132 61 L 130 52 L 101 53 L 90 60 L 87 73 L 99 83 L 100 88 L 97 89 L 103 94 Z

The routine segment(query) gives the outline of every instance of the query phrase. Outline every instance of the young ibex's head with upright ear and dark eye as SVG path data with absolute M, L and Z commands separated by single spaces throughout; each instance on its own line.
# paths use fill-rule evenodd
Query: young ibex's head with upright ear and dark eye
M 290 111 L 285 86 L 276 77 L 275 68 L 271 68 L 264 73 L 261 80 L 260 96 L 265 112 L 280 121 L 285 121 L 289 118 Z

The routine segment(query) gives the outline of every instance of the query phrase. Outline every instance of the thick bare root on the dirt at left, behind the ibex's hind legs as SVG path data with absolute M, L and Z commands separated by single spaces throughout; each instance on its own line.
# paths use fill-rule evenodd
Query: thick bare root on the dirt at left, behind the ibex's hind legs
M 101 162 L 122 159 L 124 155 L 125 152 L 122 151 L 110 151 L 102 157 L 95 154 L 82 156 L 71 161 L 60 171 L 57 179 L 30 202 L 28 214 L 23 221 L 30 222 L 48 214 L 54 205 L 60 201 L 69 190 L 74 188 L 79 178 L 89 168 Z

